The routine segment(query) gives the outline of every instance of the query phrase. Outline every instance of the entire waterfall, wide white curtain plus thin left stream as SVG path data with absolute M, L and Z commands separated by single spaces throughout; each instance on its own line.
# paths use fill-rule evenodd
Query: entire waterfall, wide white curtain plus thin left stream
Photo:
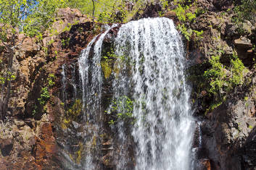
M 110 127 L 120 145 L 116 169 L 131 169 L 128 162 L 138 170 L 192 169 L 191 92 L 184 73 L 183 43 L 173 21 L 147 18 L 120 27 L 112 55 L 112 101 L 103 111 L 102 42 L 112 27 L 97 35 L 78 61 L 88 124 L 85 143 L 95 143 L 102 133 L 103 114 L 108 114 L 114 117 Z M 83 169 L 97 169 L 94 157 L 99 154 L 100 149 L 88 149 Z

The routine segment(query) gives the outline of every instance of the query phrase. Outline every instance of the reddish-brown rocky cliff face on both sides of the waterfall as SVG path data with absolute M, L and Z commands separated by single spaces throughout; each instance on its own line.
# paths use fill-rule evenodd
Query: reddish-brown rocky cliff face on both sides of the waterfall
M 244 32 L 239 32 L 240 27 L 231 22 L 233 13 L 226 12 L 232 5 L 232 1 L 198 0 L 197 8 L 207 9 L 207 12 L 200 14 L 194 22 L 186 23 L 193 30 L 204 30 L 199 41 L 193 37 L 190 41 L 184 39 L 188 63 L 197 68 L 197 75 L 204 72 L 208 67 L 205 61 L 220 48 L 223 62 L 237 51 L 239 59 L 249 69 L 244 84 L 234 88 L 225 102 L 207 114 L 205 111 L 212 97 L 199 84 L 194 82 L 192 85 L 196 94 L 192 96 L 195 116 L 202 122 L 201 133 L 195 135 L 196 169 L 256 167 L 256 77 L 255 49 L 252 48 L 256 43 L 256 25 L 244 22 Z M 163 10 L 152 4 L 134 19 L 157 17 Z M 190 12 L 195 10 L 193 7 L 189 9 Z M 77 59 L 80 51 L 102 31 L 102 25 L 97 24 L 93 30 L 92 22 L 75 9 L 61 9 L 58 16 L 53 29 L 45 33 L 41 41 L 26 38 L 15 54 L 17 78 L 12 82 L 8 121 L 0 124 L 0 169 L 80 169 L 82 166 L 81 132 L 86 126 L 80 119 L 80 102 L 75 101 L 79 91 L 75 91 L 73 82 L 79 82 Z M 178 25 L 175 12 L 166 12 L 165 17 Z M 110 35 L 115 36 L 117 30 L 110 31 Z M 104 43 L 110 46 L 111 38 Z M 5 55 L 4 49 L 0 48 L 3 62 Z M 104 89 L 111 95 L 109 84 L 106 82 Z M 105 129 L 95 141 L 104 151 L 96 161 L 102 165 L 99 169 L 115 169 L 118 143 L 115 134 L 110 132 L 108 118 L 104 119 Z M 202 145 L 197 142 L 199 135 Z M 132 167 L 133 162 L 130 164 Z

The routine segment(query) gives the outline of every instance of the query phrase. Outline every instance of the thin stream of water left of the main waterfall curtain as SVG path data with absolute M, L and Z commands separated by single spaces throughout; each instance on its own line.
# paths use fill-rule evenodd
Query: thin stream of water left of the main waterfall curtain
M 112 27 L 115 26 L 112 25 Z M 87 48 L 82 51 L 78 60 L 83 90 L 84 119 L 86 121 L 86 160 L 83 169 L 98 169 L 94 162 L 95 157 L 99 156 L 96 139 L 101 134 L 100 130 L 103 122 L 101 111 L 103 77 L 100 61 L 102 59 L 102 42 L 112 27 L 108 27 L 104 33 L 94 37 Z M 94 53 L 90 57 L 92 45 L 94 45 Z M 92 148 L 94 148 L 94 152 Z

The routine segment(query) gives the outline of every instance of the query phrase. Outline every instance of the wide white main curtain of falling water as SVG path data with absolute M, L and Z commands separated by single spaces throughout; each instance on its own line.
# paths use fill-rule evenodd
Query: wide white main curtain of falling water
M 131 92 L 135 101 L 136 169 L 191 169 L 194 121 L 183 45 L 173 21 L 128 22 L 115 43 L 116 55 L 131 60 L 131 75 L 121 72 L 114 83 L 116 98 Z

